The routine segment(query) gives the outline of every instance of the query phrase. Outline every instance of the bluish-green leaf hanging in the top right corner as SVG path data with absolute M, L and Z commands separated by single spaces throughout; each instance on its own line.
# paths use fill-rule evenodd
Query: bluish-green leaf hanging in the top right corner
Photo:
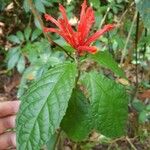
M 135 0 L 137 10 L 139 11 L 144 26 L 150 28 L 150 1 L 149 0 Z

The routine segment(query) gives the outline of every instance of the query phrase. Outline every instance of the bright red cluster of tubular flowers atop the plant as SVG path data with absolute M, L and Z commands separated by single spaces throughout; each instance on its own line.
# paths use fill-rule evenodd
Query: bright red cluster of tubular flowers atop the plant
M 65 8 L 59 5 L 59 10 L 62 14 L 62 18 L 56 20 L 52 16 L 45 14 L 46 21 L 51 21 L 58 28 L 44 28 L 44 32 L 55 32 L 62 36 L 67 43 L 69 43 L 74 49 L 77 50 L 79 55 L 84 52 L 96 53 L 97 48 L 90 46 L 92 42 L 98 39 L 105 32 L 112 30 L 115 25 L 108 24 L 102 29 L 98 30 L 93 35 L 89 36 L 90 29 L 95 22 L 94 11 L 91 7 L 87 7 L 86 0 L 82 4 L 82 10 L 80 14 L 80 21 L 77 26 L 77 31 L 74 31 L 67 19 Z

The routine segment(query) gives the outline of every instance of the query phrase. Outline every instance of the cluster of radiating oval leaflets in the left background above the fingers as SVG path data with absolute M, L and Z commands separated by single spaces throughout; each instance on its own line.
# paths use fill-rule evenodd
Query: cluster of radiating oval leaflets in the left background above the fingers
M 16 35 L 10 35 L 8 36 L 8 40 L 12 42 L 15 47 L 11 48 L 9 50 L 7 61 L 8 61 L 8 69 L 13 69 L 15 66 L 17 66 L 17 70 L 20 73 L 23 73 L 25 69 L 25 49 L 26 46 L 31 41 L 34 42 L 40 35 L 41 31 L 38 29 L 35 29 L 33 31 L 33 34 L 31 28 L 27 27 L 24 32 L 18 31 Z M 40 44 L 41 45 L 41 44 Z M 30 49 L 31 51 L 32 49 Z M 33 51 L 33 50 L 32 50 Z M 32 60 L 31 60 L 32 62 Z

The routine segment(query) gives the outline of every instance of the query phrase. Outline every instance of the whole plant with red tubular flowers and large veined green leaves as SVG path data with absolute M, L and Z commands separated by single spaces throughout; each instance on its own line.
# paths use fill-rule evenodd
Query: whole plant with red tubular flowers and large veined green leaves
M 74 49 L 66 62 L 49 69 L 35 81 L 21 97 L 17 117 L 17 149 L 39 150 L 59 129 L 73 141 L 85 140 L 92 131 L 107 137 L 125 134 L 128 98 L 125 87 L 97 71 L 82 71 L 81 60 L 92 59 L 98 64 L 124 77 L 124 73 L 108 52 L 99 52 L 91 46 L 99 36 L 112 30 L 115 25 L 105 25 L 89 35 L 95 21 L 94 11 L 82 4 L 80 21 L 74 31 L 59 5 L 62 18 L 56 20 L 46 14 L 47 21 L 57 28 L 45 27 L 44 32 L 55 32 L 62 36 Z M 77 57 L 74 57 L 77 56 Z M 81 57 L 79 57 L 81 56 Z M 85 91 L 80 87 L 84 87 Z

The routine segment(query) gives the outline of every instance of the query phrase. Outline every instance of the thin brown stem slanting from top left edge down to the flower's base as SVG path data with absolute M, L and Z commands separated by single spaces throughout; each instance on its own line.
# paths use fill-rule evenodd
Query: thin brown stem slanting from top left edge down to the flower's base
M 32 11 L 33 15 L 35 16 L 35 18 L 37 18 L 37 20 L 38 20 L 38 22 L 39 22 L 39 24 L 42 28 L 42 31 L 43 31 L 44 30 L 44 23 L 41 19 L 41 16 L 40 16 L 39 12 L 36 10 L 32 0 L 28 0 L 28 3 L 29 3 L 29 6 L 31 8 L 31 11 Z M 59 44 L 54 42 L 47 33 L 43 32 L 43 34 L 52 45 L 60 47 L 71 59 L 74 60 L 74 58 L 62 46 L 60 46 Z

